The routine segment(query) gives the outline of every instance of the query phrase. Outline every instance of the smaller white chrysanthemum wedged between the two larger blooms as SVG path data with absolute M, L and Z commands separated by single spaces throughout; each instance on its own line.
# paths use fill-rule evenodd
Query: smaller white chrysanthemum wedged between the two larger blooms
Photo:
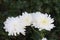
M 32 23 L 32 16 L 27 12 L 22 13 L 22 16 L 19 16 L 23 25 L 30 26 Z

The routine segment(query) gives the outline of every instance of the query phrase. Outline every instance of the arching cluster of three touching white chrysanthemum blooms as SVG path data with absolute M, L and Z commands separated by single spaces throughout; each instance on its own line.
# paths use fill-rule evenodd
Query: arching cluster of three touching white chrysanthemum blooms
M 8 32 L 8 35 L 25 35 L 26 26 L 34 26 L 39 30 L 48 30 L 50 31 L 54 26 L 54 18 L 51 18 L 47 13 L 43 14 L 41 12 L 27 13 L 24 12 L 22 15 L 17 17 L 8 17 L 4 22 L 4 29 Z

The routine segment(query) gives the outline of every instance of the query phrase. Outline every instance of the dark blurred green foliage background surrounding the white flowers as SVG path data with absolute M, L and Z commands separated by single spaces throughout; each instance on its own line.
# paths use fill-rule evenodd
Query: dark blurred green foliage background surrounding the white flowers
M 31 38 L 31 28 L 26 28 L 26 36 L 8 36 L 3 29 L 3 22 L 7 17 L 21 15 L 22 12 L 48 13 L 54 18 L 55 28 L 46 34 L 48 40 L 60 40 L 60 0 L 0 0 L 0 40 L 33 40 Z M 35 34 L 35 33 L 33 33 Z M 38 37 L 38 35 L 36 35 Z M 35 37 L 35 40 L 38 38 Z

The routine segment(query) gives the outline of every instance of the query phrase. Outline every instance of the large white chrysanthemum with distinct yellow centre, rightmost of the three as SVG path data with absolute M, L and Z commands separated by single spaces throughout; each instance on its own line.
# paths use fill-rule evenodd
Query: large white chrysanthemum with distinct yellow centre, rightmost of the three
M 45 29 L 45 30 L 51 30 L 54 26 L 52 24 L 54 22 L 54 19 L 50 17 L 48 14 L 42 14 L 41 12 L 36 12 L 32 14 L 33 17 L 33 26 L 35 28 L 38 28 L 39 30 Z

